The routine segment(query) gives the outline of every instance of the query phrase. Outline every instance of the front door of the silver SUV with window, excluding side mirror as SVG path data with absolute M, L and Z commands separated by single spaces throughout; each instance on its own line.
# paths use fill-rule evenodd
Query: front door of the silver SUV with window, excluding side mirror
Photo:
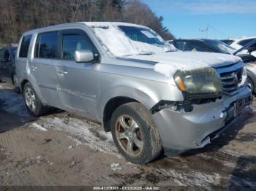
M 94 44 L 80 29 L 60 31 L 59 50 L 61 65 L 56 66 L 59 81 L 59 98 L 66 109 L 95 117 L 96 98 L 98 95 L 99 63 L 77 63 L 74 59 L 76 50 L 91 50 L 98 54 Z

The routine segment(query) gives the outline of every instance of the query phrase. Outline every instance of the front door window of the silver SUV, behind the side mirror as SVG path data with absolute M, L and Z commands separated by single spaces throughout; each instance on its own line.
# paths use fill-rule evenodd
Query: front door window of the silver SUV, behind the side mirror
M 62 58 L 74 60 L 76 50 L 91 50 L 94 47 L 86 36 L 80 34 L 64 34 L 62 39 Z

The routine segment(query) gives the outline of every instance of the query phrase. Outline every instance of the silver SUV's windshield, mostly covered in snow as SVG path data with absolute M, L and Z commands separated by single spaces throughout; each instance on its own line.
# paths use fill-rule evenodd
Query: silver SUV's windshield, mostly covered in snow
M 94 26 L 94 33 L 116 56 L 151 55 L 176 51 L 149 28 L 136 26 Z

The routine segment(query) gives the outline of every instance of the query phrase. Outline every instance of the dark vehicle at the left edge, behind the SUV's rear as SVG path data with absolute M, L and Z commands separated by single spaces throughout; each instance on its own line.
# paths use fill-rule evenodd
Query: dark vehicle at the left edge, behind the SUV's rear
M 17 76 L 15 71 L 15 53 L 17 47 L 3 47 L 0 50 L 0 78 L 15 85 L 18 90 Z

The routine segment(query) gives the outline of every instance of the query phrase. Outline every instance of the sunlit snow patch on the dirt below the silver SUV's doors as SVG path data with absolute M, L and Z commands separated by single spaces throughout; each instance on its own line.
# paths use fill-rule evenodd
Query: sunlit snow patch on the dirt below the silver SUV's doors
M 58 117 L 42 117 L 42 120 L 44 121 L 42 125 L 44 128 L 64 131 L 94 151 L 105 152 L 121 157 L 121 155 L 118 154 L 111 133 L 106 133 L 99 125 L 92 125 L 73 117 L 63 119 Z

